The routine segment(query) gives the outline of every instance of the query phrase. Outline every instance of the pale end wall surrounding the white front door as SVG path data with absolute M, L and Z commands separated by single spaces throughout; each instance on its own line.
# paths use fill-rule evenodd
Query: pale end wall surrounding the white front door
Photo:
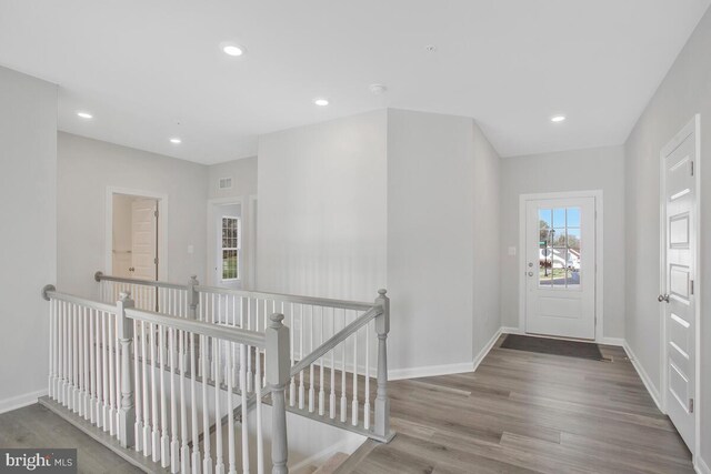
M 624 149 L 563 151 L 501 161 L 501 321 L 519 327 L 519 196 L 559 191 L 603 192 L 603 329 L 624 336 Z M 509 255 L 509 246 L 517 255 Z

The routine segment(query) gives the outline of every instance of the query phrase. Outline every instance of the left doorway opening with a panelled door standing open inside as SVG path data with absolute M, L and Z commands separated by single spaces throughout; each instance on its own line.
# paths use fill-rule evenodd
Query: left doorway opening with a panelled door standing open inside
M 107 191 L 107 269 L 134 280 L 164 280 L 166 199 L 157 194 Z

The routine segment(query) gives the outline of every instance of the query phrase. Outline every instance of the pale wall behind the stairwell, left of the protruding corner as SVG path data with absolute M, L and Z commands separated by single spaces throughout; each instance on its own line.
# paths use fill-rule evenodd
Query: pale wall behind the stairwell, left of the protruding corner
M 372 301 L 385 286 L 385 119 L 260 138 L 258 289 Z

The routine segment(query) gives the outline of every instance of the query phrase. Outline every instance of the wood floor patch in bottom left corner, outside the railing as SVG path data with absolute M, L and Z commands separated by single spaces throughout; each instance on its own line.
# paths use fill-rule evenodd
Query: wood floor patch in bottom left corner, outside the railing
M 39 404 L 0 414 L 0 446 L 76 447 L 80 473 L 142 472 Z

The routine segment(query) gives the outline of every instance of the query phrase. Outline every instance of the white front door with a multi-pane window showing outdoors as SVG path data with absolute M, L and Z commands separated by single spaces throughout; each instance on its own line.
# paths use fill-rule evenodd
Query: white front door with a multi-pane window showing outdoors
M 525 201 L 525 332 L 595 339 L 595 198 Z

